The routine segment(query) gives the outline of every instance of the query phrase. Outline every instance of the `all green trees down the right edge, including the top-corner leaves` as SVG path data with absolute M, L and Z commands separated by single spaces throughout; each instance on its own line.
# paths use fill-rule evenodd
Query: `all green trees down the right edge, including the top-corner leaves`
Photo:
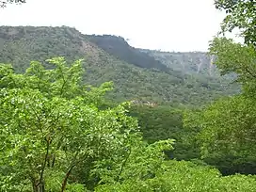
M 227 12 L 222 32 L 240 28 L 245 44 L 215 38 L 210 43 L 209 54 L 216 56 L 215 64 L 222 75 L 235 74 L 236 82 L 242 87 L 241 94 L 219 100 L 205 107 L 198 116 L 190 114 L 184 119 L 185 126 L 200 127 L 197 139 L 202 157 L 225 162 L 226 168 L 233 169 L 229 173 L 255 173 L 256 168 L 255 3 L 254 0 L 216 1 L 216 8 Z

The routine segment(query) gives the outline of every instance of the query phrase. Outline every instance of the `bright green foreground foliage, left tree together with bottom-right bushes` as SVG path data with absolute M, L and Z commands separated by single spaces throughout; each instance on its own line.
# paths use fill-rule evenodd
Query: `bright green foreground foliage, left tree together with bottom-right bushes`
M 0 184 L 16 191 L 253 192 L 255 177 L 165 160 L 174 140 L 143 142 L 128 103 L 100 109 L 111 84 L 87 89 L 82 62 L 0 65 Z

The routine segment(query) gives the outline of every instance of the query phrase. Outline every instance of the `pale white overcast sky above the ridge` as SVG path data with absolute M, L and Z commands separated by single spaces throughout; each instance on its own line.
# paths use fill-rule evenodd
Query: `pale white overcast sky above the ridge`
M 136 48 L 170 52 L 207 51 L 225 16 L 214 0 L 26 1 L 0 9 L 0 25 L 67 25 L 84 34 L 121 36 Z

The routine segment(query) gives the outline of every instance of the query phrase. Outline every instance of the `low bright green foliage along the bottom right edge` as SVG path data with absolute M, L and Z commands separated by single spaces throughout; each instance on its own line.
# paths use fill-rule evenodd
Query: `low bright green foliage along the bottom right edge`
M 215 168 L 198 166 L 191 162 L 168 161 L 156 174 L 147 181 L 135 181 L 130 178 L 123 184 L 100 185 L 96 191 L 254 191 L 256 180 L 253 177 L 235 175 L 220 177 Z

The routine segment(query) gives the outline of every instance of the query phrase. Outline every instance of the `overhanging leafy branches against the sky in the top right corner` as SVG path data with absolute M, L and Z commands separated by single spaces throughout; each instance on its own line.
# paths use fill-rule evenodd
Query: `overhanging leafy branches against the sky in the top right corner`
M 255 0 L 215 0 L 216 8 L 225 10 L 227 16 L 222 24 L 222 32 L 237 27 L 242 30 L 246 44 L 256 48 L 256 1 Z

